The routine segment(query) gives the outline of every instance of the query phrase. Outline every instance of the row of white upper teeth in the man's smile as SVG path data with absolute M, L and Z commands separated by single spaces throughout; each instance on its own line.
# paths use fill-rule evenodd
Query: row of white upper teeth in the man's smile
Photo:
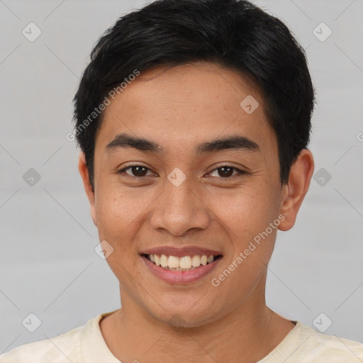
M 191 269 L 192 267 L 199 267 L 201 264 L 205 266 L 214 260 L 213 255 L 194 255 L 190 256 L 167 256 L 167 255 L 148 255 L 151 262 L 161 267 L 169 267 L 169 269 Z

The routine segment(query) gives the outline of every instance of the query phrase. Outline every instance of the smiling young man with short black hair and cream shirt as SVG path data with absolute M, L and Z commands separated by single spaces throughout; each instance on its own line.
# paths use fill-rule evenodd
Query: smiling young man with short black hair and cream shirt
M 120 18 L 91 53 L 74 135 L 122 308 L 0 362 L 363 362 L 359 342 L 264 298 L 313 174 L 313 100 L 303 50 L 248 1 Z

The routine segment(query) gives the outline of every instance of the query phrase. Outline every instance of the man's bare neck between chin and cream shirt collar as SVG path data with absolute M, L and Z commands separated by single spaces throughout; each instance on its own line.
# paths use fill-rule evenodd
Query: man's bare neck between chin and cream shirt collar
M 122 309 L 101 322 L 101 332 L 121 362 L 257 362 L 294 328 L 266 306 L 262 290 L 213 323 L 195 328 L 173 328 L 123 298 Z

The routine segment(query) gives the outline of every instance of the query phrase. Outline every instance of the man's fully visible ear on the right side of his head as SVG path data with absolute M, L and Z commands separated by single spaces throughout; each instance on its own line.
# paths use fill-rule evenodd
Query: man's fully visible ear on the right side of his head
M 291 229 L 298 210 L 309 189 L 314 172 L 314 159 L 310 150 L 303 149 L 291 166 L 289 181 L 282 186 L 280 213 L 285 219 L 279 224 L 279 230 Z

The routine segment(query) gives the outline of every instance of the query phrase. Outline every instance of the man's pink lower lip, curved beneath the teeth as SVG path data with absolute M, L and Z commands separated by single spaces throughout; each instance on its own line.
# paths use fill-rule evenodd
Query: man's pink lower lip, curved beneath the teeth
M 202 277 L 209 274 L 220 262 L 220 259 L 216 259 L 216 261 L 211 262 L 210 264 L 206 264 L 205 266 L 196 267 L 191 271 L 172 271 L 169 269 L 163 269 L 160 266 L 152 263 L 145 256 L 141 256 L 145 265 L 150 269 L 150 271 L 155 274 L 160 279 L 169 282 L 171 284 L 186 284 L 188 282 L 194 282 Z

